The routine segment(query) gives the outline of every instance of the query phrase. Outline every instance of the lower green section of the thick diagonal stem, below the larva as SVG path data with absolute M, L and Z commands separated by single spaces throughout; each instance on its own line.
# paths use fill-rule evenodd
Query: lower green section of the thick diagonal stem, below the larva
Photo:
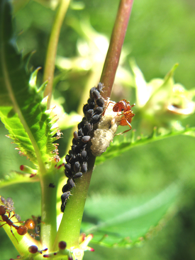
M 76 188 L 72 188 L 71 190 L 72 196 L 70 195 L 70 200 L 67 201 L 53 250 L 57 249 L 57 245 L 60 241 L 65 241 L 67 243 L 67 248 L 79 246 L 81 220 L 91 180 L 91 174 L 93 172 L 95 157 L 91 156 L 87 163 L 87 173 L 83 174 L 82 178 L 76 181 Z

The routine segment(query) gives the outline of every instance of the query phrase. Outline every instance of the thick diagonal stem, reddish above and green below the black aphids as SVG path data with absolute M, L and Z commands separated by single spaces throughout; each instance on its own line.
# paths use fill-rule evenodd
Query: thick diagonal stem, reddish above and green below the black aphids
M 111 89 L 120 58 L 120 52 L 130 17 L 132 3 L 133 0 L 121 0 L 120 2 L 111 36 L 110 46 L 100 79 L 100 81 L 104 83 L 105 86 L 103 93 L 104 98 L 110 97 L 111 94 Z M 90 154 L 87 163 L 87 173 L 83 174 L 82 178 L 76 181 L 76 188 L 72 188 L 71 190 L 72 196 L 70 196 L 70 200 L 66 204 L 53 250 L 57 249 L 59 241 L 65 241 L 67 243 L 67 248 L 79 246 L 81 220 L 86 196 L 88 193 L 88 187 L 91 180 L 91 174 L 95 164 L 95 157 L 92 154 Z

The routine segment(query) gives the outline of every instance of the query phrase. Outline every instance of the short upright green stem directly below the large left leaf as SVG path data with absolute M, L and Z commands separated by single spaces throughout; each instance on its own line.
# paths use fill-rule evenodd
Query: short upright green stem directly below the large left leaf
M 59 176 L 55 170 L 40 175 L 41 184 L 41 243 L 50 252 L 57 234 L 56 194 Z M 55 187 L 49 187 L 55 183 Z

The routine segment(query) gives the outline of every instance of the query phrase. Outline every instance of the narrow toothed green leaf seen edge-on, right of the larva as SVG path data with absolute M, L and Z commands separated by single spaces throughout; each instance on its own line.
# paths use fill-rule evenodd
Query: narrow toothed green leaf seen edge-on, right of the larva
M 162 133 L 157 135 L 156 129 L 154 129 L 154 133 L 151 136 L 138 136 L 136 140 L 134 140 L 134 132 L 132 133 L 132 138 L 130 140 L 125 140 L 126 137 L 124 136 L 123 141 L 118 141 L 117 137 L 115 137 L 113 143 L 110 143 L 110 146 L 107 148 L 106 152 L 103 153 L 100 157 L 96 157 L 95 164 L 98 165 L 100 163 L 103 163 L 107 159 L 112 159 L 114 157 L 119 156 L 123 152 L 126 152 L 130 150 L 133 147 L 139 146 L 139 145 L 145 145 L 148 143 L 152 143 L 154 141 L 162 140 L 164 138 L 178 136 L 178 135 L 195 135 L 195 127 L 186 127 L 182 130 L 173 130 L 169 133 Z

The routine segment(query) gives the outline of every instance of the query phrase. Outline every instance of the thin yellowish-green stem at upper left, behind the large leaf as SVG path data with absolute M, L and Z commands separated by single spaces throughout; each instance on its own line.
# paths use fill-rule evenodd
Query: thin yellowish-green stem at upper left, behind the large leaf
M 52 27 L 51 35 L 49 38 L 49 44 L 47 47 L 47 54 L 45 60 L 45 69 L 43 74 L 43 81 L 48 80 L 47 87 L 44 92 L 44 96 L 48 95 L 47 109 L 50 108 L 52 88 L 54 80 L 55 60 L 58 47 L 58 40 L 60 35 L 61 26 L 67 12 L 70 0 L 61 0 L 60 6 L 56 13 L 54 24 Z

